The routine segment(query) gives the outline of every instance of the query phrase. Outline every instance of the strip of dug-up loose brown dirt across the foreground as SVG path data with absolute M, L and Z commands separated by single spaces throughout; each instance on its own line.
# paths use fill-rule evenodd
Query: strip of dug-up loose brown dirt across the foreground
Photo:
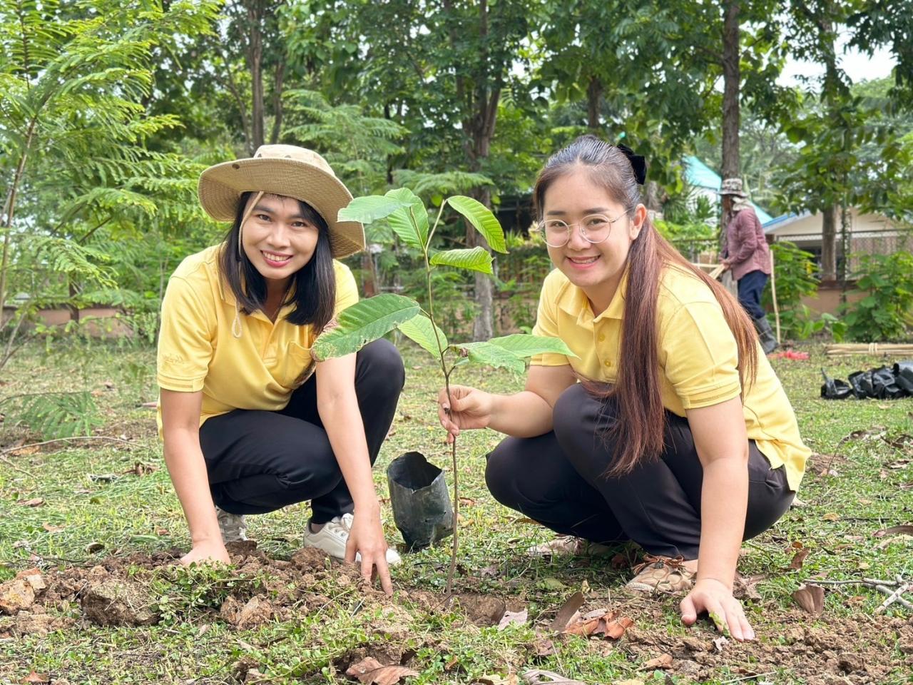
M 466 617 L 467 630 L 477 630 L 476 626 L 497 624 L 505 610 L 524 608 L 517 597 L 466 593 L 447 601 L 420 588 L 401 587 L 394 599 L 388 599 L 376 588 L 364 585 L 356 566 L 332 561 L 314 549 L 299 550 L 288 561 L 269 559 L 257 550 L 256 543 L 233 544 L 229 551 L 235 564 L 232 578 L 237 582 L 215 604 L 194 609 L 193 619 L 225 621 L 238 629 L 293 621 L 303 613 L 320 614 L 351 589 L 353 596 L 361 597 L 358 610 L 371 612 L 372 630 L 366 644 L 333 659 L 334 668 L 341 672 L 368 656 L 383 664 L 408 664 L 420 669 L 421 664 L 415 662 L 416 648 L 446 649 L 446 645 L 427 644 L 433 636 L 425 636 L 422 645 L 416 646 L 412 624 L 426 614 L 457 612 Z M 74 619 L 59 614 L 72 615 L 76 603 L 84 617 L 100 625 L 152 623 L 158 616 L 150 582 L 163 573 L 162 567 L 176 563 L 177 554 L 176 550 L 152 556 L 136 554 L 106 559 L 90 568 L 71 567 L 46 574 L 40 580 L 47 588 L 35 590 L 31 606 L 20 608 L 13 616 L 0 617 L 0 637 L 65 629 Z M 37 581 L 34 573 L 28 577 Z M 25 578 L 18 580 L 32 588 Z M 16 590 L 22 589 L 16 585 Z M 581 612 L 608 606 L 631 618 L 634 626 L 618 640 L 590 638 L 588 646 L 593 655 L 621 650 L 637 663 L 668 655 L 672 662 L 666 672 L 683 680 L 706 680 L 719 676 L 724 668 L 733 678 L 786 669 L 809 685 L 864 685 L 886 680 L 898 669 L 913 669 L 913 623 L 902 618 L 872 617 L 861 612 L 854 617 L 828 616 L 826 612 L 810 617 L 799 609 L 783 610 L 771 603 L 763 607 L 765 617 L 776 617 L 779 628 L 761 627 L 759 640 L 739 643 L 720 640 L 707 621 L 684 634 L 669 635 L 665 627 L 667 608 L 669 603 L 677 603 L 677 598 L 614 595 L 612 601 L 607 599 L 591 595 Z M 551 613 L 532 617 L 542 640 L 557 643 L 580 639 L 551 634 L 548 626 L 552 618 Z M 771 620 L 765 623 L 774 625 Z M 540 659 L 535 644 L 530 644 L 525 659 L 530 665 Z

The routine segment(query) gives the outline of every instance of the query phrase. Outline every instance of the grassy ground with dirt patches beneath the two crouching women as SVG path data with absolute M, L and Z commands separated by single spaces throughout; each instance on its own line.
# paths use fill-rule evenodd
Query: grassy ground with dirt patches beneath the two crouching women
M 551 533 L 488 495 L 484 455 L 498 443 L 490 431 L 460 438 L 453 602 L 443 595 L 449 543 L 404 554 L 387 599 L 365 591 L 352 568 L 296 553 L 306 505 L 250 517 L 257 549 L 236 549 L 231 570 L 175 568 L 170 562 L 188 546 L 186 526 L 154 410 L 142 406 L 156 395 L 154 351 L 76 340 L 26 347 L 0 373 L 0 398 L 89 390 L 101 414 L 94 435 L 114 439 L 28 447 L 39 437 L 10 425 L 16 400 L 0 405 L 8 415 L 0 437 L 0 580 L 37 567 L 47 584 L 28 613 L 0 616 L 0 682 L 30 674 L 33 682 L 72 684 L 356 682 L 346 670 L 368 656 L 412 669 L 417 675 L 403 680 L 410 683 L 522 684 L 536 681 L 534 669 L 585 683 L 913 682 L 913 612 L 896 603 L 879 613 L 885 596 L 862 585 L 825 585 L 817 616 L 792 599 L 809 578 L 913 578 L 913 537 L 882 533 L 913 523 L 913 399 L 824 401 L 823 366 L 845 378 L 881 360 L 834 361 L 821 347 L 803 350 L 810 360 L 774 364 L 815 455 L 802 506 L 743 546 L 740 573 L 753 597 L 747 615 L 759 640 L 739 644 L 718 640 L 706 619 L 683 627 L 674 597 L 626 595 L 634 549 L 613 558 L 527 556 Z M 404 359 L 404 395 L 375 468 L 382 497 L 384 468 L 405 451 L 450 471 L 436 427 L 436 369 L 409 347 Z M 467 369 L 456 382 L 510 392 L 522 379 Z M 386 501 L 383 515 L 388 540 L 401 543 Z M 131 595 L 112 605 L 104 595 L 112 586 Z M 576 592 L 582 612 L 613 610 L 633 625 L 615 640 L 551 632 Z M 114 606 L 125 607 L 121 620 L 148 625 L 100 625 L 117 618 Z M 528 618 L 498 629 L 505 610 Z M 378 673 L 387 675 L 398 674 Z

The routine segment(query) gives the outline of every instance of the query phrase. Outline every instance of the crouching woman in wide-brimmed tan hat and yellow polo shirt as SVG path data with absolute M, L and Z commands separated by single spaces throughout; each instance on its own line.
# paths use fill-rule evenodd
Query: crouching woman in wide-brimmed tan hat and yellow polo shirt
M 334 258 L 364 248 L 339 221 L 352 195 L 319 154 L 264 145 L 200 177 L 200 203 L 231 221 L 226 240 L 185 258 L 168 282 L 158 349 L 159 426 L 193 548 L 228 562 L 245 514 L 310 501 L 306 546 L 361 561 L 391 591 L 371 467 L 403 388 L 380 340 L 315 364 L 310 347 L 358 301 Z

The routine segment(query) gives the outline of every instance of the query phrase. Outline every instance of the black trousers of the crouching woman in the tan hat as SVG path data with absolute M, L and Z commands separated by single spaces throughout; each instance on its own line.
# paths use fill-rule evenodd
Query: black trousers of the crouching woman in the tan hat
M 403 360 L 391 342 L 378 340 L 357 353 L 355 395 L 372 465 L 393 423 L 404 378 Z M 310 500 L 311 521 L 326 523 L 354 508 L 320 422 L 316 374 L 282 411 L 236 409 L 207 419 L 200 447 L 213 501 L 225 511 L 266 513 Z

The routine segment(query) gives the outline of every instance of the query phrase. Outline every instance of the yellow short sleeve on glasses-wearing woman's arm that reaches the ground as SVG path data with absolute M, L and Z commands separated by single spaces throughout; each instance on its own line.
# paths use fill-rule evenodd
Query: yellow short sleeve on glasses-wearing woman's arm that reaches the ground
M 681 305 L 660 335 L 660 364 L 685 409 L 740 395 L 739 350 L 718 302 Z

